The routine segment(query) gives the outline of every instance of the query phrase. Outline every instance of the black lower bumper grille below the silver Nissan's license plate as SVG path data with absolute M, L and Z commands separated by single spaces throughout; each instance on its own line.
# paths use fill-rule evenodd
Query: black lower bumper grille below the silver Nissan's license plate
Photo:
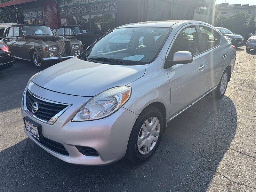
M 47 139 L 46 137 L 43 137 L 42 139 L 40 138 L 39 141 L 42 145 L 44 145 L 45 147 L 52 149 L 53 151 L 63 154 L 63 155 L 69 155 L 68 151 L 66 150 L 66 148 L 61 144 L 58 143 L 56 141 Z

